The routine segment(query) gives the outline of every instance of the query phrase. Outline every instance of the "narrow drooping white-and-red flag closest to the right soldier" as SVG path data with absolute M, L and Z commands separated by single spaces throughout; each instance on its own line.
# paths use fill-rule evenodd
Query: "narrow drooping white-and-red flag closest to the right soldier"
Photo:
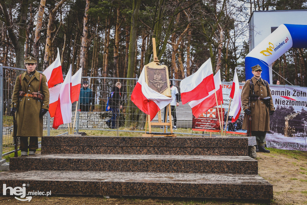
M 229 110 L 229 116 L 233 116 L 231 122 L 234 123 L 239 118 L 241 113 L 241 94 L 237 68 L 235 69 L 235 75 L 233 77 L 230 97 L 232 98 L 232 102 Z

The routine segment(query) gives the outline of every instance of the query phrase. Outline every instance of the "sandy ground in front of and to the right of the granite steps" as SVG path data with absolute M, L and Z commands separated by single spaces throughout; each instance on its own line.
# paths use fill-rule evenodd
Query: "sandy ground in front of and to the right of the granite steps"
M 258 173 L 273 184 L 274 200 L 271 204 L 307 204 L 307 159 L 289 158 L 282 154 L 258 153 Z M 21 202 L 12 196 L 1 196 L 0 204 L 140 204 L 140 205 L 179 205 L 179 204 L 259 204 L 246 202 L 227 202 L 216 200 L 167 200 L 167 199 L 142 199 L 142 198 L 109 198 L 102 196 L 52 196 L 33 197 L 30 202 Z

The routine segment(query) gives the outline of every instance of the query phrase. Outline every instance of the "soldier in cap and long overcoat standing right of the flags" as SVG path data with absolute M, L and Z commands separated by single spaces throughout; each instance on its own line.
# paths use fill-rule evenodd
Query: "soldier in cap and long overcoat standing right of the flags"
M 269 153 L 263 145 L 266 132 L 270 130 L 270 115 L 273 115 L 275 108 L 269 83 L 260 77 L 261 67 L 255 65 L 251 69 L 254 76 L 245 82 L 241 93 L 242 108 L 245 112 L 242 129 L 247 132 L 250 129 L 251 135 L 256 136 L 256 152 Z

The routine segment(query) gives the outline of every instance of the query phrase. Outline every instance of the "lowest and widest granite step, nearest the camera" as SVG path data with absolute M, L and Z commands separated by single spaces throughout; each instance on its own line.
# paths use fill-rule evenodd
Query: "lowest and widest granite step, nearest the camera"
M 273 185 L 259 175 L 96 171 L 8 171 L 0 175 L 0 186 L 24 183 L 27 192 L 51 194 L 273 199 Z

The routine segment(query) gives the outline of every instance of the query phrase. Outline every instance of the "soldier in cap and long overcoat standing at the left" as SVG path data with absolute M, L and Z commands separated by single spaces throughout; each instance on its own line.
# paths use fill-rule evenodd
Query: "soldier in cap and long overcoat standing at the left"
M 21 156 L 27 156 L 28 149 L 29 155 L 35 155 L 38 137 L 43 136 L 43 116 L 49 109 L 46 76 L 35 70 L 36 58 L 29 56 L 24 60 L 27 70 L 16 78 L 11 103 L 11 113 L 16 115 Z

